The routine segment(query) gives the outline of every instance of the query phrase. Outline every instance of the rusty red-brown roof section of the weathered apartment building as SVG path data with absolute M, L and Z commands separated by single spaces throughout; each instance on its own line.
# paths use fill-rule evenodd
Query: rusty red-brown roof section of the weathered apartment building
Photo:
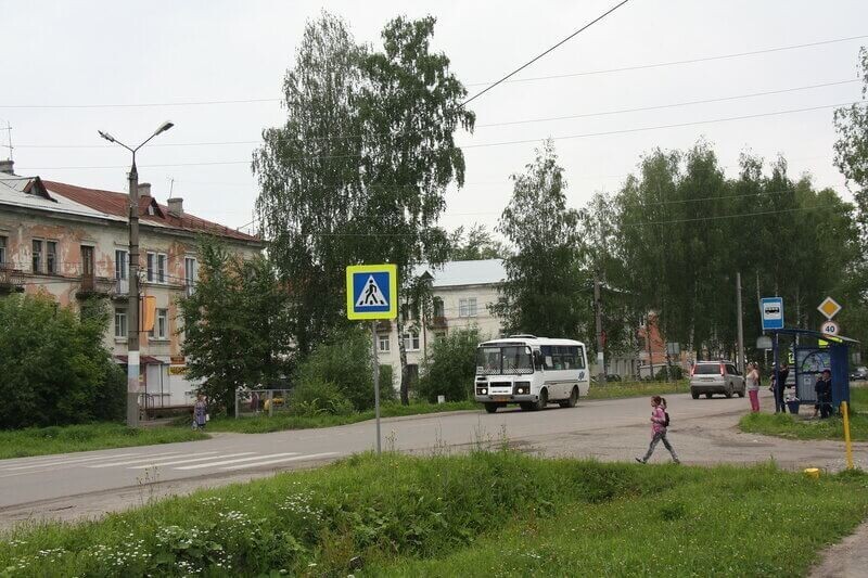
M 114 191 L 103 191 L 100 189 L 86 189 L 84 187 L 55 181 L 42 182 L 49 193 L 53 193 L 55 196 L 65 197 L 74 203 L 90 207 L 107 216 L 119 217 L 123 220 L 127 218 L 129 195 L 126 193 L 116 193 Z M 153 215 L 148 214 L 149 207 L 154 208 Z M 175 229 L 191 233 L 207 233 L 237 241 L 261 243 L 261 240 L 256 236 L 202 219 L 189 213 L 184 213 L 182 217 L 169 215 L 168 207 L 161 205 L 150 195 L 141 195 L 139 197 L 139 221 L 153 227 L 164 227 L 166 229 Z

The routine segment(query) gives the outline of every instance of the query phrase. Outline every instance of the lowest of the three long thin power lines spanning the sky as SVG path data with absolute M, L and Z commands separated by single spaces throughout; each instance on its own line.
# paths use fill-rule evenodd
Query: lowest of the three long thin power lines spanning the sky
M 681 127 L 691 127 L 691 126 L 699 126 L 699 125 L 711 125 L 716 123 L 730 123 L 733 120 L 748 120 L 753 118 L 762 118 L 767 116 L 780 116 L 787 114 L 795 114 L 795 113 L 806 113 L 813 111 L 822 111 L 828 108 L 838 108 L 841 106 L 851 106 L 851 105 L 858 105 L 858 104 L 866 104 L 868 101 L 852 101 L 852 102 L 843 102 L 838 104 L 824 104 L 819 106 L 808 106 L 804 108 L 789 108 L 786 111 L 773 111 L 768 113 L 757 113 L 751 115 L 740 115 L 740 116 L 728 116 L 722 118 L 711 118 L 707 120 L 692 120 L 688 123 L 675 123 L 671 125 L 656 125 L 650 127 L 636 127 L 636 128 L 628 128 L 628 129 L 621 129 L 621 130 L 605 130 L 599 132 L 585 132 L 579 134 L 564 134 L 560 137 L 548 137 L 553 141 L 561 141 L 561 140 L 573 140 L 573 139 L 586 139 L 592 137 L 608 137 L 614 134 L 627 134 L 630 132 L 646 132 L 649 130 L 662 130 L 668 128 L 681 128 Z M 544 137 L 534 138 L 534 139 L 522 139 L 522 140 L 513 140 L 513 141 L 498 141 L 498 142 L 487 142 L 487 143 L 480 143 L 480 144 L 464 144 L 460 145 L 461 149 L 483 149 L 488 146 L 506 146 L 512 144 L 527 144 L 527 143 L 537 143 L 542 140 L 546 140 Z M 363 155 L 322 155 L 322 156 L 299 156 L 292 158 L 292 160 L 326 160 L 332 158 L 360 158 Z M 207 162 L 207 163 L 168 163 L 168 164 L 158 164 L 158 165 L 140 165 L 140 168 L 162 168 L 162 167 L 190 167 L 190 166 L 210 166 L 210 165 L 247 165 L 251 160 L 216 160 L 216 162 Z M 101 165 L 101 166 L 66 166 L 66 167 L 22 167 L 21 170 L 30 170 L 30 171 L 38 171 L 38 170 L 77 170 L 77 169 L 123 169 L 127 168 L 126 165 Z

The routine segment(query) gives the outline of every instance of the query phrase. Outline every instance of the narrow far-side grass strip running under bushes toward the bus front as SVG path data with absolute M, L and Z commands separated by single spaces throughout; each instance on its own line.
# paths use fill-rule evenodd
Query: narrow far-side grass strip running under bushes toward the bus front
M 399 418 L 404 415 L 420 415 L 443 411 L 480 410 L 482 406 L 473 401 L 450 401 L 447 403 L 384 403 L 380 408 L 381 418 Z M 260 415 L 257 418 L 217 418 L 208 422 L 209 432 L 235 432 L 239 434 L 265 434 L 268 432 L 282 432 L 284 429 L 308 429 L 314 427 L 332 427 L 352 423 L 373 420 L 373 410 L 350 413 L 348 415 L 290 415 L 277 413 L 271 418 Z M 190 419 L 183 418 L 176 421 L 179 427 L 189 427 Z

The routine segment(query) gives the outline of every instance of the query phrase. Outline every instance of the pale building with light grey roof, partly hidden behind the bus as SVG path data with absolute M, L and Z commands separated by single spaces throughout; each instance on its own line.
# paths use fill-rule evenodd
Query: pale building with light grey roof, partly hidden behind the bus
M 488 311 L 488 306 L 497 301 L 497 285 L 507 273 L 500 259 L 486 259 L 450 261 L 441 268 L 420 267 L 416 275 L 431 279 L 434 304 L 430 319 L 424 311 L 414 310 L 408 304 L 401 307 L 400 314 L 405 319 L 403 338 L 411 380 L 419 376 L 419 369 L 433 341 L 449 331 L 476 326 L 482 338 L 500 336 L 500 319 Z M 381 321 L 378 329 L 380 364 L 392 365 L 397 387 L 400 383 L 397 325 L 392 321 Z

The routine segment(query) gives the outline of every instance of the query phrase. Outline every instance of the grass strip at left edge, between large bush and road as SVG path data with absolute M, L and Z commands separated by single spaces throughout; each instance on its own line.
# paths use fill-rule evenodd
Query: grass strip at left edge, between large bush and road
M 187 428 L 154 427 L 132 429 L 117 423 L 95 423 L 0 432 L 0 460 L 127 448 L 207 439 L 205 434 Z

